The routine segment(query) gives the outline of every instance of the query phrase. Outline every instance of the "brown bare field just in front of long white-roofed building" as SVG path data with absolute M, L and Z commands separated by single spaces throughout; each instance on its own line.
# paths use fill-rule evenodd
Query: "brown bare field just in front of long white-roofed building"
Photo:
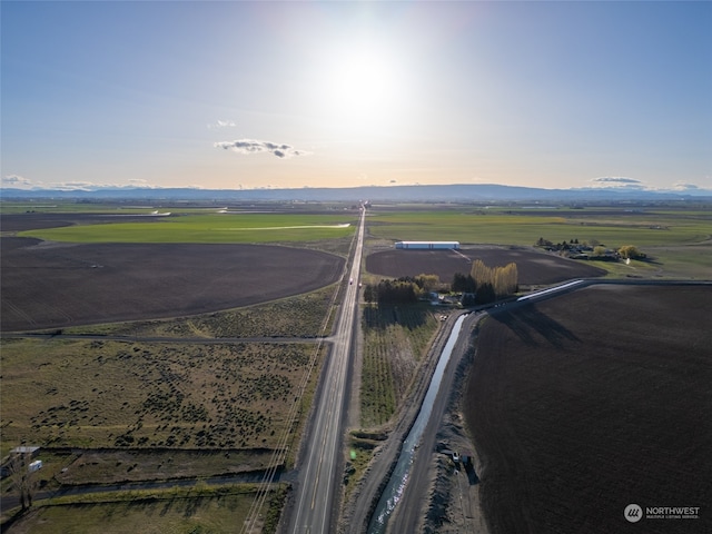
M 589 263 L 565 259 L 525 248 L 481 247 L 461 250 L 384 250 L 366 258 L 366 270 L 376 275 L 402 277 L 437 275 L 449 283 L 455 273 L 469 274 L 472 260 L 481 259 L 487 267 L 515 263 L 520 284 L 545 285 L 571 278 L 605 275 L 605 270 Z

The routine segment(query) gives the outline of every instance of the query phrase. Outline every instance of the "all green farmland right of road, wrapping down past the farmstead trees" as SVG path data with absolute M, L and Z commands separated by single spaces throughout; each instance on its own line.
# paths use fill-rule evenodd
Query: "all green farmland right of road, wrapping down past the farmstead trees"
M 630 266 L 596 261 L 610 276 L 709 278 L 712 273 L 712 210 L 682 208 L 474 208 L 437 211 L 375 211 L 373 243 L 457 240 L 471 245 L 533 246 L 537 239 L 634 245 L 646 255 Z M 378 241 L 376 241 L 378 240 Z

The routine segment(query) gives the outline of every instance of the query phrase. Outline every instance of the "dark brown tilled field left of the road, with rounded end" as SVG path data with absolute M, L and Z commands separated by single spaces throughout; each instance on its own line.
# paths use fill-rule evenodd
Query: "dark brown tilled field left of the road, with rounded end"
M 257 245 L 44 244 L 3 237 L 3 332 L 175 317 L 336 281 L 344 259 Z

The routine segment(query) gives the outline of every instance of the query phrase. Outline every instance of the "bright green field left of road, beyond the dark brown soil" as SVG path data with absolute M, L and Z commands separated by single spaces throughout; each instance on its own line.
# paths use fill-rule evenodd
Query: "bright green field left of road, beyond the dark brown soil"
M 348 215 L 214 214 L 43 228 L 18 236 L 70 243 L 293 243 L 350 236 L 356 222 Z

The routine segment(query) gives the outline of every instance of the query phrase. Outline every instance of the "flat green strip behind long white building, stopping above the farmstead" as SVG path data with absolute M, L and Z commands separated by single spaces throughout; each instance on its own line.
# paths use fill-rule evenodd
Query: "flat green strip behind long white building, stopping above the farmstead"
M 533 211 L 533 210 L 532 210 Z M 553 214 L 555 211 L 555 215 Z M 710 211 L 643 211 L 620 209 L 547 210 L 541 215 L 462 208 L 441 211 L 372 212 L 369 233 L 392 240 L 458 240 L 463 244 L 534 245 L 540 237 L 607 246 L 689 245 L 710 239 Z

